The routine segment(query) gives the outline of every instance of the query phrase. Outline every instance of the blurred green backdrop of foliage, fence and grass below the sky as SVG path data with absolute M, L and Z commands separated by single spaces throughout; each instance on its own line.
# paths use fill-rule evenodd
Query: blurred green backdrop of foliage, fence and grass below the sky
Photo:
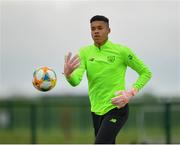
M 0 101 L 0 143 L 93 143 L 88 96 Z M 180 143 L 180 99 L 144 94 L 131 101 L 117 143 Z

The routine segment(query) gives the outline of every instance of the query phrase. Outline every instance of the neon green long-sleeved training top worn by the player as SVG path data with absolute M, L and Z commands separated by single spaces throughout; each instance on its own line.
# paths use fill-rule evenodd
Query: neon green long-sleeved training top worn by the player
M 111 103 L 115 92 L 125 90 L 127 66 L 139 77 L 133 87 L 140 90 L 151 78 L 148 67 L 126 46 L 111 41 L 98 48 L 90 45 L 79 50 L 81 65 L 73 71 L 68 82 L 76 86 L 86 70 L 91 111 L 103 115 L 116 106 Z

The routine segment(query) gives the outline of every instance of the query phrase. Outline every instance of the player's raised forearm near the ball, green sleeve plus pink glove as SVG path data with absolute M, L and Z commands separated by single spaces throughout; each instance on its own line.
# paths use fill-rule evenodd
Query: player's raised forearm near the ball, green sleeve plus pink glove
M 71 58 L 71 53 L 69 52 L 65 56 L 64 62 L 64 75 L 66 80 L 72 85 L 77 86 L 83 77 L 85 71 L 84 60 L 79 55 L 75 55 Z

